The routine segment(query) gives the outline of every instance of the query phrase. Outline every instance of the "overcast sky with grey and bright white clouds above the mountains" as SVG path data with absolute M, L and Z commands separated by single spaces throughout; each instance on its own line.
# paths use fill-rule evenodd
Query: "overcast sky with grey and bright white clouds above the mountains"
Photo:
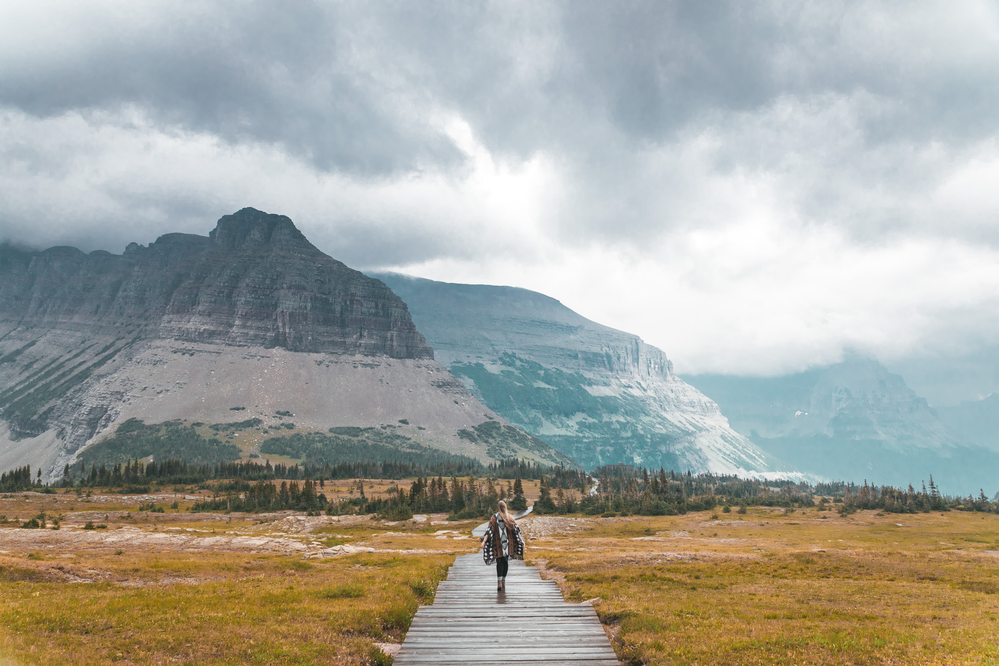
M 997 109 L 995 2 L 4 3 L 0 238 L 120 253 L 253 206 L 681 371 L 854 349 L 981 392 Z

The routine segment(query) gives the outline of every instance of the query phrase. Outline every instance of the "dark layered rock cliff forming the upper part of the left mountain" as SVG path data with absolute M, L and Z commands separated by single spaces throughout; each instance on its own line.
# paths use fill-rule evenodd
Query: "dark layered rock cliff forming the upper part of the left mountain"
M 431 358 L 385 284 L 316 249 L 291 220 L 246 208 L 208 237 L 167 234 L 123 255 L 0 254 L 0 317 L 21 330 Z

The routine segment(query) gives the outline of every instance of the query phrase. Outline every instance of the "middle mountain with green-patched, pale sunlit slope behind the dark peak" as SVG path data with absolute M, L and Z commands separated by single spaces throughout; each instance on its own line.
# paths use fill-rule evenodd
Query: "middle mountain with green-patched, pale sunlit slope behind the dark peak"
M 483 402 L 583 466 L 787 475 L 637 335 L 512 287 L 376 274 Z

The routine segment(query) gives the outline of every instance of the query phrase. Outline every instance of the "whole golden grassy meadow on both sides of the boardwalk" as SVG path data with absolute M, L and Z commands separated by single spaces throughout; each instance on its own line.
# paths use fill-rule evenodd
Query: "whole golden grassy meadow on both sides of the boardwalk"
M 352 516 L 285 533 L 290 512 L 192 514 L 180 502 L 155 514 L 86 499 L 0 499 L 10 517 L 63 516 L 58 532 L 0 524 L 0 663 L 388 664 L 376 643 L 402 641 L 454 557 L 478 545 L 476 521 Z M 74 541 L 71 511 L 91 510 L 108 512 L 103 533 L 136 540 Z M 598 598 L 624 664 L 999 666 L 996 515 L 750 507 L 521 525 L 528 563 L 567 601 Z M 319 559 L 152 538 L 169 530 L 374 552 Z

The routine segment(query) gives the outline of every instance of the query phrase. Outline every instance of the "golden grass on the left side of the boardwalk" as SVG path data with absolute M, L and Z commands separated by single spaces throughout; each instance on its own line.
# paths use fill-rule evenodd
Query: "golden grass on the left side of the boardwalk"
M 346 488 L 349 481 L 341 483 Z M 381 482 L 376 490 L 388 485 Z M 170 493 L 172 487 L 161 492 Z M 134 500 L 97 491 L 89 499 L 75 493 L 17 493 L 0 500 L 0 514 L 10 519 L 44 510 L 63 516 L 68 525 L 80 522 L 70 517 L 74 511 L 107 513 L 100 521 L 108 524 L 108 532 L 122 526 L 143 532 L 179 527 L 207 537 L 274 534 L 278 528 L 252 514 L 137 509 Z M 374 643 L 402 640 L 418 604 L 430 602 L 428 590 L 471 543 L 436 539 L 434 532 L 468 530 L 474 524 L 390 526 L 361 518 L 308 536 L 288 535 L 326 547 L 367 543 L 402 551 L 323 560 L 72 540 L 46 550 L 53 548 L 47 535 L 64 538 L 79 530 L 53 533 L 0 525 L 0 543 L 8 529 L 18 537 L 26 532 L 37 537 L 30 548 L 8 539 L 20 551 L 0 554 L 0 663 L 389 663 Z M 94 582 L 69 582 L 73 579 Z

